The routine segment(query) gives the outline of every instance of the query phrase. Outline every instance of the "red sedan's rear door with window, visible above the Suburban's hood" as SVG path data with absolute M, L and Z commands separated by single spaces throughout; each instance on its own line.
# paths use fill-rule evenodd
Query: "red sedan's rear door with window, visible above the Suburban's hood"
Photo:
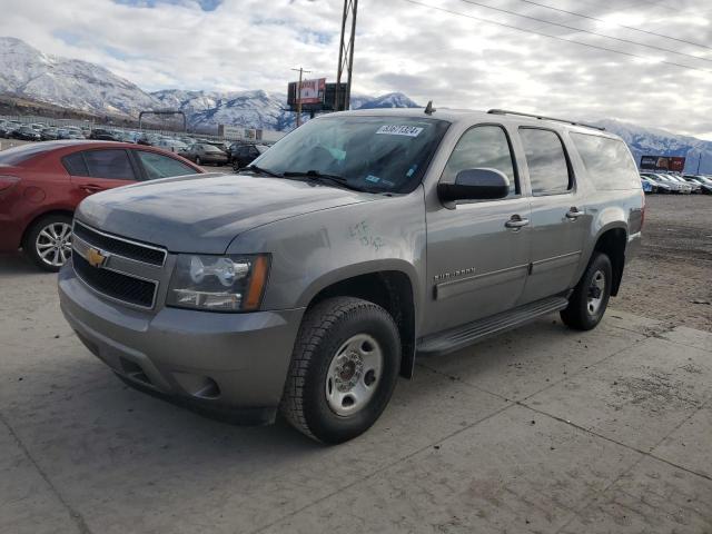
M 62 158 L 80 201 L 95 192 L 132 184 L 139 172 L 123 148 L 82 150 Z

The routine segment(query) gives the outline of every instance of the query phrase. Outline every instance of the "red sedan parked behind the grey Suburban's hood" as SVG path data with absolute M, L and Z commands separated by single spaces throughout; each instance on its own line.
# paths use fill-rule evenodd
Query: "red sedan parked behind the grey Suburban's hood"
M 180 156 L 115 141 L 48 141 L 0 151 L 0 253 L 56 271 L 71 255 L 71 219 L 89 195 L 205 172 Z

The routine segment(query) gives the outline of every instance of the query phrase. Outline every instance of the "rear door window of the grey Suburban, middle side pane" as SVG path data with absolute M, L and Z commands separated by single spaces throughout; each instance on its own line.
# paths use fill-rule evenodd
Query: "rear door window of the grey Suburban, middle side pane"
M 558 136 L 551 130 L 520 128 L 520 137 L 530 168 L 532 195 L 542 197 L 568 191 L 573 184 Z

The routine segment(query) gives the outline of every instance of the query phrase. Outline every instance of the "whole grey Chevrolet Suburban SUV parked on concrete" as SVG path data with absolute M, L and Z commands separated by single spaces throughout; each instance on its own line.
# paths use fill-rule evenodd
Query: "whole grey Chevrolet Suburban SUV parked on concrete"
M 237 175 L 137 184 L 76 211 L 61 309 L 128 384 L 339 443 L 415 358 L 558 312 L 594 328 L 641 238 L 624 142 L 560 119 L 367 110 Z

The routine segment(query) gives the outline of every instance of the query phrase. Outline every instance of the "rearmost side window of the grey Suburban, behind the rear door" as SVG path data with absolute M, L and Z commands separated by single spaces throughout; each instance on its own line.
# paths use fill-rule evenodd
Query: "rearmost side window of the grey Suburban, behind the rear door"
M 571 134 L 571 139 L 596 189 L 640 187 L 637 167 L 623 141 L 574 132 Z

